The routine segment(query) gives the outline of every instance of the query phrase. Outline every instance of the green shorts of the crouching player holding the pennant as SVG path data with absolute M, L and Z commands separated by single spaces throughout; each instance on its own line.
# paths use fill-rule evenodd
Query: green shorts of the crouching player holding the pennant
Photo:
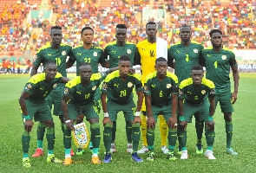
M 84 115 L 86 119 L 99 119 L 99 110 L 95 101 L 86 106 L 75 106 L 68 104 L 69 119 L 76 119 L 78 115 Z

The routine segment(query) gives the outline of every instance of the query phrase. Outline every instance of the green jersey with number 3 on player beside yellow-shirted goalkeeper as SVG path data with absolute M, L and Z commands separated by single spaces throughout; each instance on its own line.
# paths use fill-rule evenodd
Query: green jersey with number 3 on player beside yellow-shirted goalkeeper
M 194 41 L 191 41 L 188 47 L 184 47 L 180 41 L 168 48 L 168 61 L 175 61 L 174 74 L 179 82 L 190 77 L 191 68 L 199 64 L 203 48 L 200 43 Z

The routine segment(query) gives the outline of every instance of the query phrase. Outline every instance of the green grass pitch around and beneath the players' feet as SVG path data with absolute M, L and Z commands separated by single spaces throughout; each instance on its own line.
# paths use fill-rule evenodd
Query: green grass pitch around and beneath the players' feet
M 72 79 L 74 74 L 69 75 Z M 31 131 L 30 160 L 32 167 L 25 169 L 22 166 L 22 144 L 21 134 L 23 123 L 20 116 L 18 98 L 23 90 L 23 86 L 30 78 L 29 74 L 0 75 L 0 117 L 1 117 L 1 144 L 0 144 L 0 172 L 255 172 L 255 151 L 256 141 L 255 131 L 255 94 L 256 94 L 256 74 L 240 74 L 240 88 L 238 100 L 234 105 L 233 113 L 233 149 L 239 152 L 238 157 L 226 155 L 226 132 L 223 115 L 220 107 L 216 109 L 214 120 L 216 123 L 216 138 L 213 145 L 216 160 L 207 160 L 203 156 L 195 154 L 196 135 L 194 122 L 187 127 L 187 149 L 189 158 L 187 160 L 178 159 L 174 162 L 168 161 L 161 153 L 161 141 L 159 128 L 156 128 L 155 154 L 156 160 L 148 162 L 147 155 L 141 155 L 143 163 L 134 163 L 130 155 L 126 153 L 126 135 L 124 119 L 120 114 L 117 120 L 117 153 L 113 156 L 112 163 L 102 163 L 93 165 L 90 163 L 91 154 L 89 150 L 83 156 L 75 156 L 73 163 L 64 166 L 60 163 L 46 163 L 47 141 L 44 139 L 44 156 L 33 158 L 31 155 L 36 150 L 36 124 Z M 56 145 L 55 154 L 59 158 L 64 158 L 62 144 L 62 132 L 59 120 L 54 117 L 56 124 Z M 102 114 L 101 120 L 102 122 Z M 87 124 L 88 125 L 88 124 Z M 101 123 L 102 125 L 102 123 Z M 101 130 L 103 128 L 101 127 Z M 141 147 L 140 143 L 140 147 Z M 206 140 L 203 138 L 204 149 Z M 72 144 L 74 151 L 75 144 Z M 101 141 L 100 158 L 103 158 L 104 146 Z

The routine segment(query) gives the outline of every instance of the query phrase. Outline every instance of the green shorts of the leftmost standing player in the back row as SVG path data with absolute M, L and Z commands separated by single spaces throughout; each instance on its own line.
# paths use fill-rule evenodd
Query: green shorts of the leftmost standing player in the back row
M 46 98 L 49 109 L 52 109 L 52 105 L 54 105 L 53 114 L 56 116 L 63 115 L 61 100 L 64 94 L 64 86 L 64 84 L 58 84 L 58 86 L 56 86 Z

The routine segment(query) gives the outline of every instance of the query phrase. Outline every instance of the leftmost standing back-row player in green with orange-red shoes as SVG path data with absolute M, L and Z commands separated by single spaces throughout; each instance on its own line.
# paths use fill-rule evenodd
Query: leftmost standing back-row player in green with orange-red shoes
M 40 48 L 36 53 L 36 59 L 33 62 L 33 66 L 31 69 L 30 76 L 37 74 L 37 69 L 43 63 L 43 67 L 45 67 L 48 61 L 55 61 L 56 66 L 58 68 L 58 72 L 62 74 L 62 76 L 66 77 L 66 59 L 67 56 L 73 57 L 72 48 L 69 45 L 62 43 L 62 28 L 59 26 L 53 26 L 50 29 L 50 36 L 52 41 Z M 64 131 L 64 120 L 61 109 L 61 99 L 63 94 L 63 84 L 58 84 L 55 88 L 49 93 L 47 97 L 47 103 L 49 108 L 52 108 L 54 105 L 54 115 L 59 116 L 62 125 L 62 132 Z M 40 157 L 43 156 L 43 136 L 45 132 L 45 125 L 43 122 L 39 122 L 37 126 L 37 149 L 35 154 L 32 157 Z M 74 155 L 74 152 L 71 153 Z

